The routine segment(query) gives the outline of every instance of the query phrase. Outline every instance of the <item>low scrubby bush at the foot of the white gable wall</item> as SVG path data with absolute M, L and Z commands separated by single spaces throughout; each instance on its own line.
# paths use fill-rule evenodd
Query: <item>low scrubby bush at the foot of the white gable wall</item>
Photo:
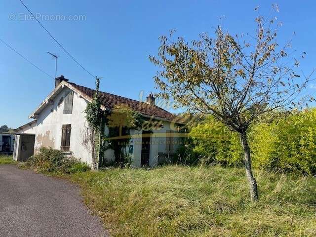
M 45 147 L 41 147 L 39 153 L 30 157 L 25 165 L 40 172 L 62 172 L 67 174 L 85 172 L 90 169 L 86 163 L 80 162 L 76 158 L 67 158 L 63 152 Z

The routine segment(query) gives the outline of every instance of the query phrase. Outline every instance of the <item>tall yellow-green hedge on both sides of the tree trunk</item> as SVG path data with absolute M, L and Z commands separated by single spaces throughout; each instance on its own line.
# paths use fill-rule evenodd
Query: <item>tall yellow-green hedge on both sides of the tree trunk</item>
M 214 118 L 193 127 L 189 140 L 199 159 L 242 165 L 238 134 Z M 256 124 L 250 129 L 249 142 L 255 167 L 316 174 L 316 109 L 278 115 L 270 123 Z

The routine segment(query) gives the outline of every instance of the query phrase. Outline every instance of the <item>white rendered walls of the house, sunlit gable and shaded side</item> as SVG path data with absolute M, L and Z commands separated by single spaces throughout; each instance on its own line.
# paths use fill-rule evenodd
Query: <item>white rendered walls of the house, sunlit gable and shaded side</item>
M 89 164 L 92 163 L 92 156 L 89 149 L 86 147 L 86 143 L 83 141 L 83 133 L 87 130 L 87 121 L 85 119 L 84 110 L 87 105 L 87 101 L 74 93 L 73 100 L 73 113 L 64 115 L 64 101 L 65 95 L 70 91 L 68 87 L 65 88 L 54 98 L 52 104 L 47 105 L 37 118 L 35 123 L 23 127 L 19 130 L 19 133 L 36 134 L 35 137 L 35 152 L 40 147 L 51 147 L 60 150 L 62 125 L 71 124 L 71 138 L 70 138 L 70 151 L 76 158 L 80 158 L 82 161 Z M 151 135 L 151 147 L 150 147 L 150 166 L 156 166 L 158 164 L 158 153 L 166 153 L 166 137 L 165 134 L 168 130 L 174 130 L 170 126 L 170 122 L 163 122 L 163 126 L 159 129 L 154 129 Z M 106 135 L 109 133 L 109 129 L 105 127 Z M 131 135 L 138 135 L 130 141 L 130 145 L 133 146 L 133 153 L 130 154 L 133 159 L 133 165 L 139 167 L 141 165 L 141 151 L 142 151 L 142 131 L 132 129 Z M 176 141 L 177 138 L 174 139 Z M 128 153 L 130 145 L 126 146 L 126 152 Z M 173 151 L 176 151 L 177 145 L 172 144 Z M 114 160 L 114 151 L 109 149 L 104 154 L 105 158 L 109 161 Z

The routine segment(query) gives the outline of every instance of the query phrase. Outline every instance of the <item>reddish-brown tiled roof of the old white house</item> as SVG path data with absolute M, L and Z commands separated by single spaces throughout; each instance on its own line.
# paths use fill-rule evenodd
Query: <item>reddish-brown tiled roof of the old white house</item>
M 81 85 L 77 85 L 73 82 L 68 82 L 68 83 L 91 98 L 93 98 L 96 92 L 93 89 L 90 89 L 88 87 L 84 87 Z M 147 103 L 128 99 L 122 96 L 113 95 L 110 93 L 99 91 L 99 99 L 100 99 L 100 103 L 109 109 L 113 109 L 115 108 L 115 106 L 118 106 L 118 105 L 125 105 L 125 106 L 128 106 L 130 109 L 138 111 L 142 115 L 145 115 L 145 116 L 164 118 L 169 121 L 175 118 L 173 114 L 169 113 L 166 110 L 161 109 L 158 106 L 151 106 Z

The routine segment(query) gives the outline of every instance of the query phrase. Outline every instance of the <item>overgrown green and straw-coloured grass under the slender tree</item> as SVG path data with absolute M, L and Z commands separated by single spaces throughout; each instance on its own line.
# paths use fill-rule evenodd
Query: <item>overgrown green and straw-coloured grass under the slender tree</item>
M 115 237 L 316 236 L 316 179 L 256 170 L 251 203 L 243 169 L 166 166 L 71 176 Z

